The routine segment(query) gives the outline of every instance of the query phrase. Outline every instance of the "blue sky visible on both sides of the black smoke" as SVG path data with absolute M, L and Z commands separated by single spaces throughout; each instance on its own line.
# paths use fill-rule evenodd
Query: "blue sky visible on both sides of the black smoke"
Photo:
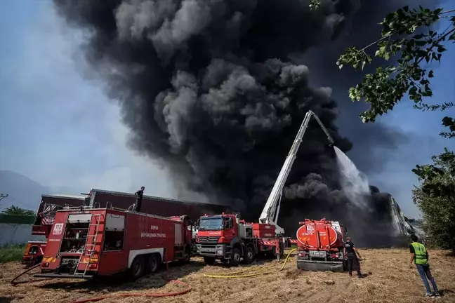
M 103 84 L 86 81 L 88 70 L 77 53 L 78 33 L 62 26 L 51 1 L 4 0 L 0 11 L 0 169 L 13 170 L 51 187 L 87 191 L 103 188 L 175 197 L 166 171 L 126 148 L 128 130 L 119 109 L 103 94 Z M 435 67 L 435 99 L 455 99 L 455 46 Z M 411 173 L 453 140 L 437 137 L 440 112 L 423 113 L 402 102 L 381 121 L 411 138 L 373 184 L 393 194 L 404 213 L 416 217 Z

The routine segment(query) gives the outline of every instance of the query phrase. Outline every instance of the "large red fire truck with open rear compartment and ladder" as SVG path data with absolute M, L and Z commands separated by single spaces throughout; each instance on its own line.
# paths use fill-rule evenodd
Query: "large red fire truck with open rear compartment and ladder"
M 128 272 L 139 278 L 164 262 L 190 260 L 190 220 L 109 208 L 58 210 L 48 237 L 41 274 L 84 278 Z

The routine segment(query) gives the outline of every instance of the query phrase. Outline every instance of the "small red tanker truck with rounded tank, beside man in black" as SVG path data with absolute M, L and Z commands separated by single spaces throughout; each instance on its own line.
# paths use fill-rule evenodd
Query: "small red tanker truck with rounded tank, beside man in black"
M 347 229 L 339 222 L 308 220 L 297 230 L 297 268 L 310 271 L 345 271 L 343 238 Z

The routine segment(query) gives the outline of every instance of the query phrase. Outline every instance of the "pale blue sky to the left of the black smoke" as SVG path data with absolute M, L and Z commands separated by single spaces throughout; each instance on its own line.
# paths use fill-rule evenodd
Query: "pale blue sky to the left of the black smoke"
M 6 1 L 0 12 L 0 169 L 44 186 L 172 197 L 165 172 L 126 148 L 119 109 L 82 79 L 80 34 L 51 1 Z M 140 184 L 138 184 L 139 182 Z

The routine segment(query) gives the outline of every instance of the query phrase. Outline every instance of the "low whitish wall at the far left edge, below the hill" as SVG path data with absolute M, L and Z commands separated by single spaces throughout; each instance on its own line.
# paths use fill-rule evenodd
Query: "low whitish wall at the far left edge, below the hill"
M 0 223 L 0 246 L 46 241 L 45 236 L 32 236 L 32 224 Z

